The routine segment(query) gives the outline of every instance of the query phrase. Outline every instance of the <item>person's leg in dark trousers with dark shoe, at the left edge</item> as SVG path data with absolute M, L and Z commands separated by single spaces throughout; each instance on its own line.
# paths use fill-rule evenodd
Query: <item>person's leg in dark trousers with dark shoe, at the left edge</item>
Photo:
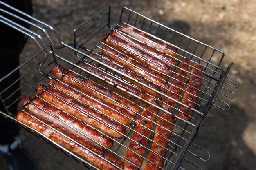
M 31 0 L 4 1 L 17 9 L 32 15 Z M 5 9 L 8 10 L 7 8 Z M 4 16 L 7 17 L 7 15 Z M 10 19 L 29 28 L 28 24 L 24 24 L 15 18 Z M 0 28 L 2 32 L 0 38 L 0 78 L 2 78 L 19 66 L 19 55 L 25 45 L 26 38 L 22 33 L 2 23 L 0 24 Z M 20 74 L 18 71 L 16 71 L 4 79 L 4 81 L 0 83 L 0 91 L 7 88 L 19 77 Z M 3 93 L 3 98 L 9 96 L 11 93 L 17 90 L 18 87 L 19 82 L 11 86 L 10 91 Z M 19 96 L 20 91 L 16 92 L 5 102 L 9 106 Z M 0 102 L 0 110 L 6 112 L 2 102 Z M 8 111 L 13 115 L 17 115 L 17 102 L 12 104 L 11 107 L 8 108 Z M 27 153 L 26 150 L 22 148 L 20 139 L 16 137 L 18 131 L 18 124 L 9 122 L 4 117 L 0 116 L 0 155 L 7 160 L 11 170 L 36 170 L 36 165 L 32 157 Z

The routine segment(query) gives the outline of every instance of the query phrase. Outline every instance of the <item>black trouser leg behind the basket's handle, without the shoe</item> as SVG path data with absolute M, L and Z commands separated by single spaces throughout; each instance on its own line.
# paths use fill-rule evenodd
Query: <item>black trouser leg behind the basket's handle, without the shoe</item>
M 32 4 L 31 0 L 4 0 L 4 2 L 10 4 L 21 11 L 32 15 Z M 7 15 L 4 15 L 7 16 Z M 18 22 L 18 24 L 22 24 L 27 28 L 29 25 L 25 25 L 20 21 L 17 21 L 13 18 L 11 20 Z M 0 79 L 11 72 L 14 68 L 19 66 L 19 55 L 25 45 L 24 35 L 9 26 L 4 24 L 0 24 L 1 28 L 1 38 L 0 38 Z M 12 82 L 20 77 L 19 72 L 13 73 L 10 77 L 4 80 L 4 82 L 0 83 L 0 91 L 9 86 Z M 5 93 L 4 97 L 7 97 L 11 94 L 15 89 L 18 89 L 19 83 L 16 83 L 12 86 L 10 93 Z M 13 95 L 9 101 L 13 101 L 17 99 L 20 95 L 20 91 L 18 91 L 15 95 Z M 7 101 L 8 104 L 10 102 Z M 0 110 L 6 112 L 2 102 L 0 102 Z M 17 114 L 17 102 L 13 104 L 9 109 L 9 112 L 12 114 Z M 10 144 L 14 137 L 17 135 L 19 131 L 18 124 L 14 122 L 7 121 L 4 117 L 0 116 L 0 144 Z

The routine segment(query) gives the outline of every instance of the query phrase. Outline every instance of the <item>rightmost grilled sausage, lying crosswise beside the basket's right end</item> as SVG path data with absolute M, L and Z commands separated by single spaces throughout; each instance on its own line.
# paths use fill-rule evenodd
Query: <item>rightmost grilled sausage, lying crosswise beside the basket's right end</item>
M 182 100 L 182 103 L 186 104 L 187 106 L 189 106 L 189 108 L 195 108 L 196 106 L 196 102 L 198 101 L 198 95 L 199 95 L 199 89 L 201 88 L 201 83 L 202 83 L 202 77 L 203 77 L 203 67 L 200 64 L 194 64 L 193 66 L 194 68 L 191 71 L 191 75 L 190 75 L 190 80 L 188 82 L 188 84 L 190 86 L 188 86 L 186 88 L 186 92 L 184 94 L 184 98 Z M 189 99 L 189 100 L 187 100 Z M 193 103 L 194 102 L 194 103 Z M 180 113 L 179 113 L 179 117 L 181 117 L 182 119 L 185 119 L 187 121 L 191 120 L 191 116 L 193 116 L 193 111 L 190 110 L 187 107 L 184 106 L 180 106 Z

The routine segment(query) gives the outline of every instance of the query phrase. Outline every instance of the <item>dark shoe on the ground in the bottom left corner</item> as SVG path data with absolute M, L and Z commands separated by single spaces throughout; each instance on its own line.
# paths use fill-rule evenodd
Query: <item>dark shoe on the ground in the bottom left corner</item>
M 29 153 L 22 148 L 21 141 L 18 137 L 15 138 L 12 144 L 9 145 L 7 153 L 1 152 L 9 164 L 10 170 L 36 170 L 36 164 Z

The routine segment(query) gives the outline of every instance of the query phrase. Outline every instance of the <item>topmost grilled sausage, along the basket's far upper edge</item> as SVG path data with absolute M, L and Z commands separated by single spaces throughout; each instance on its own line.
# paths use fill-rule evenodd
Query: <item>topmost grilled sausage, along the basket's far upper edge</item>
M 119 30 L 136 38 L 137 40 L 140 40 L 146 44 L 149 44 L 150 46 L 152 46 L 168 55 L 171 55 L 172 57 L 178 56 L 177 48 L 169 45 L 166 42 L 163 42 L 162 40 L 160 40 L 157 37 L 154 37 L 148 33 L 144 33 L 137 28 L 134 28 L 134 27 L 128 26 L 128 25 L 123 25 L 122 27 L 119 28 Z

